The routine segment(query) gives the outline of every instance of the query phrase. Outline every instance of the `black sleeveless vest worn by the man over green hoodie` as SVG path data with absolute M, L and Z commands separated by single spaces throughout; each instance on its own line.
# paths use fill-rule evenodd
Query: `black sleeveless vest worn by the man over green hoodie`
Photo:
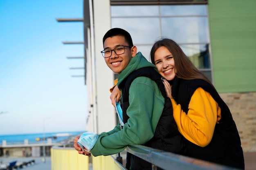
M 165 99 L 164 109 L 162 115 L 158 121 L 155 134 L 152 139 L 150 139 L 144 146 L 150 148 L 156 148 L 159 150 L 164 150 L 168 152 L 174 152 L 177 154 L 184 154 L 184 146 L 181 141 L 181 134 L 177 130 L 177 125 L 173 118 L 173 107 L 171 104 L 171 99 L 167 97 L 166 91 L 164 89 L 164 84 L 161 79 L 161 75 L 157 73 L 152 67 L 140 68 L 132 72 L 123 82 L 120 84 L 119 88 L 122 91 L 122 110 L 123 110 L 123 120 L 124 124 L 128 121 L 129 117 L 126 113 L 129 107 L 129 88 L 132 81 L 137 77 L 148 77 L 155 81 Z M 126 168 L 129 169 L 131 166 L 132 170 L 151 170 L 151 163 L 140 159 L 134 155 L 128 153 L 126 158 Z M 158 168 L 160 169 L 160 168 Z

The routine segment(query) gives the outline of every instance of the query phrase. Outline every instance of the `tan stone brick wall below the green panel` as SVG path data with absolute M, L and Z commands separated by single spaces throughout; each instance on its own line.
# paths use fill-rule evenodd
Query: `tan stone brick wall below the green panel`
M 236 122 L 244 152 L 256 152 L 256 92 L 220 93 Z

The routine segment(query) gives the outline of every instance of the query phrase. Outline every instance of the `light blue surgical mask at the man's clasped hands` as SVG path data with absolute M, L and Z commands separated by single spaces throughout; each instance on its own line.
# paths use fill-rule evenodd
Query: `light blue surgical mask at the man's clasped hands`
M 98 138 L 99 135 L 97 133 L 84 132 L 78 139 L 77 143 L 81 146 L 81 148 L 85 147 L 88 151 L 90 151 L 94 147 Z

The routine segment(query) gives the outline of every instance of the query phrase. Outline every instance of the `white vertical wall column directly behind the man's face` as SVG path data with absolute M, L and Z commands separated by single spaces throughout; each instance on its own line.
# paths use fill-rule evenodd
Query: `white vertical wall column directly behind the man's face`
M 100 53 L 103 50 L 102 38 L 111 28 L 109 0 L 93 0 L 93 14 L 97 132 L 101 133 L 108 132 L 116 126 L 115 108 L 111 104 L 109 92 L 109 88 L 113 86 L 114 75 Z M 91 118 L 90 121 L 92 121 Z

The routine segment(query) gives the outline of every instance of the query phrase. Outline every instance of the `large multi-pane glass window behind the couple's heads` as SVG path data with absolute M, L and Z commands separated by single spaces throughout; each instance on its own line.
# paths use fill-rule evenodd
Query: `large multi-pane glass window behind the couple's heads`
M 211 77 L 207 5 L 111 6 L 112 28 L 127 30 L 148 61 L 159 38 L 177 42 L 195 66 Z

